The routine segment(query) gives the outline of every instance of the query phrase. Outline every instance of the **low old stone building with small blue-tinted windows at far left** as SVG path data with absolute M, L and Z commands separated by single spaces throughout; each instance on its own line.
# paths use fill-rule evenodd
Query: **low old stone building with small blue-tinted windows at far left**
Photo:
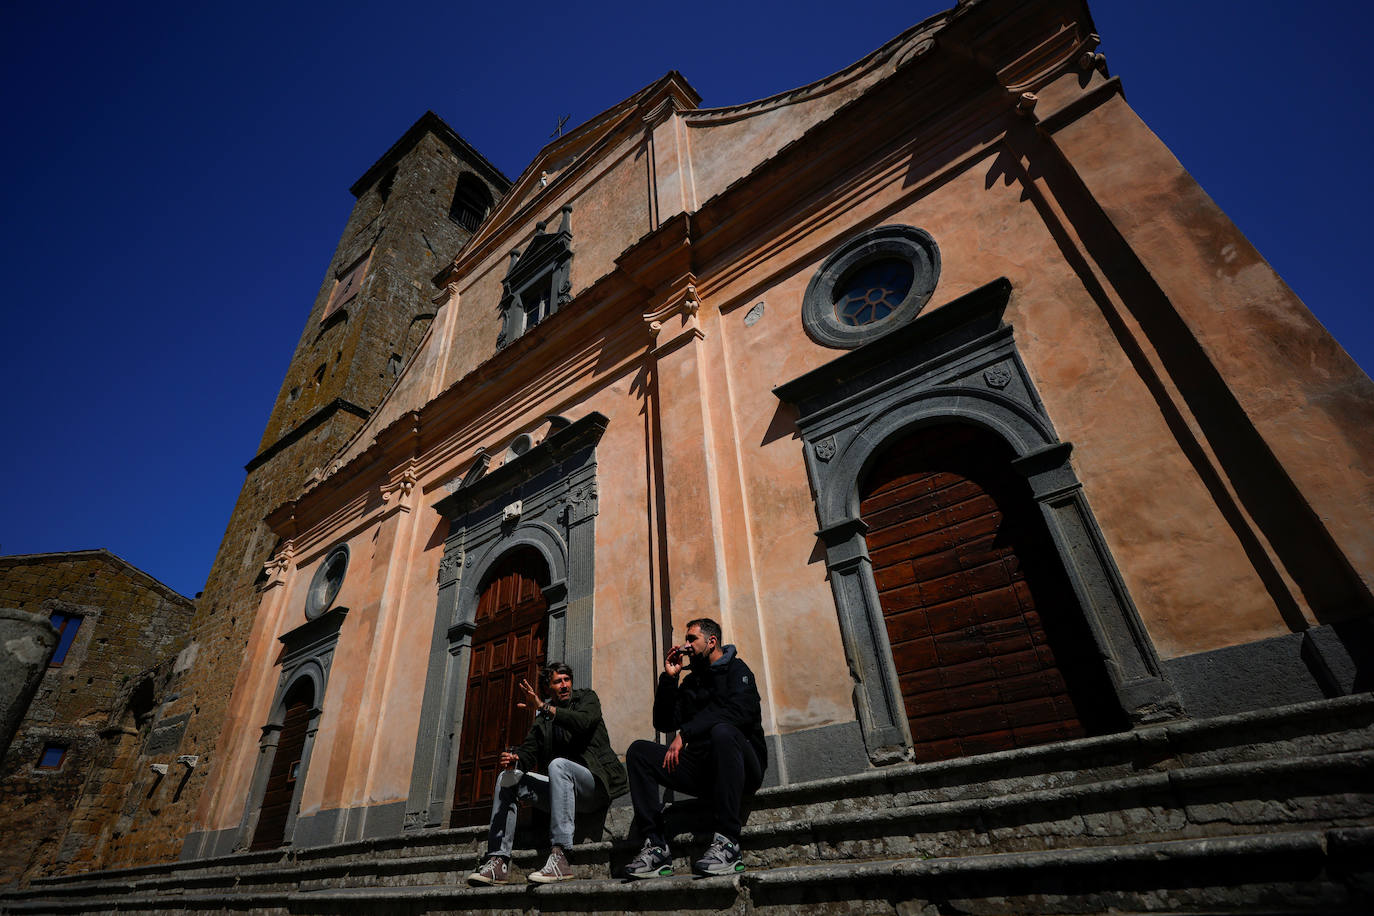
M 172 765 L 185 717 L 157 703 L 191 602 L 102 549 L 0 556 L 0 607 L 49 617 L 60 634 L 0 769 L 0 883 L 98 867 L 190 775 Z M 140 755 L 166 773 L 139 770 Z

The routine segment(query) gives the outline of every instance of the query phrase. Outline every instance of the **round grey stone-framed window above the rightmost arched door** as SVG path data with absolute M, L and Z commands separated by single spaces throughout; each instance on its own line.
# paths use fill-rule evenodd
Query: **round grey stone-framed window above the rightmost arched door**
M 801 323 L 816 343 L 851 349 L 918 314 L 940 280 L 940 247 L 912 225 L 860 232 L 807 286 Z

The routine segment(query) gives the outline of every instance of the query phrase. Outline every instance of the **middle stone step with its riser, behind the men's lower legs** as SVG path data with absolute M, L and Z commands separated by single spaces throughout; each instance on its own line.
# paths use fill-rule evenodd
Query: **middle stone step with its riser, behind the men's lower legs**
M 764 868 L 807 861 L 932 858 L 1092 846 L 1121 836 L 1182 838 L 1260 832 L 1274 825 L 1359 825 L 1374 821 L 1371 772 L 1374 751 L 1345 751 L 1147 772 L 992 798 L 904 806 L 878 803 L 868 809 L 750 824 L 743 836 L 745 861 L 750 868 Z M 676 834 L 673 847 L 679 869 L 690 868 L 690 857 L 708 839 L 709 829 Z M 429 850 L 411 849 L 405 856 L 360 856 L 322 847 L 286 861 L 279 857 L 253 865 L 223 862 L 217 868 L 44 882 L 36 887 L 99 894 L 111 889 L 184 893 L 220 886 L 229 879 L 236 889 L 261 890 L 431 884 L 460 882 L 480 850 L 481 843 L 474 836 Z M 635 850 L 633 843 L 603 840 L 578 845 L 572 857 L 580 875 L 606 876 L 613 868 L 618 871 Z M 541 853 L 534 849 L 515 853 L 519 871 L 539 868 L 541 861 Z

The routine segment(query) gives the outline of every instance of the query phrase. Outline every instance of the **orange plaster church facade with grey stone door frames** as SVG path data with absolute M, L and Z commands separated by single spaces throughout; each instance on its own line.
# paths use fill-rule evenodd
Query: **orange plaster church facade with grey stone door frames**
M 567 662 L 624 748 L 697 617 L 779 783 L 1367 689 L 1374 386 L 1096 41 L 1077 0 L 959 4 L 449 176 L 470 225 L 407 266 L 433 309 L 375 409 L 328 401 L 229 558 L 269 551 L 183 857 L 480 821 L 515 683 Z M 302 346 L 381 264 L 350 238 Z

